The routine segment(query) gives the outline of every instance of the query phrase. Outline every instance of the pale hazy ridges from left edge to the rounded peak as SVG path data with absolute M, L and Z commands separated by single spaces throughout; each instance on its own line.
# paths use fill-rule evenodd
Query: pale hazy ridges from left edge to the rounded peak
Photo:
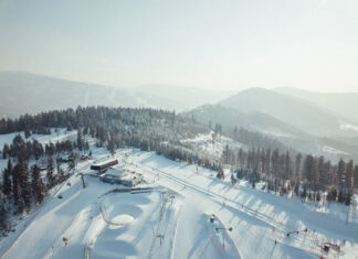
M 117 88 L 25 72 L 0 72 L 0 118 L 96 105 L 181 111 L 229 95 L 168 85 Z

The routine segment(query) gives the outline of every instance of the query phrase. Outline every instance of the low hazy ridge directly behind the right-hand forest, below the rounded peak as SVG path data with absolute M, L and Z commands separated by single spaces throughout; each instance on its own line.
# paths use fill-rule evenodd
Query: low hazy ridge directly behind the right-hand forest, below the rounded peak
M 196 120 L 202 123 L 211 123 L 212 127 L 215 123 L 221 123 L 224 129 L 238 127 L 260 132 L 271 139 L 278 140 L 288 149 L 324 155 L 333 161 L 337 161 L 339 158 L 354 159 L 358 157 L 358 145 L 348 141 L 351 138 L 333 139 L 310 136 L 264 112 L 245 114 L 220 105 L 204 105 L 185 115 L 193 116 Z

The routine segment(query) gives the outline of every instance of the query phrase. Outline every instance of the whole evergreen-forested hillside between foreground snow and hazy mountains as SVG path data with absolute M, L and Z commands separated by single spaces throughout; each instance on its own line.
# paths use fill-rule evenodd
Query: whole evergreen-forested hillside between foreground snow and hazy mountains
M 76 139 L 45 145 L 35 139 L 30 140 L 34 133 L 48 134 L 59 128 L 75 129 Z M 230 131 L 218 123 L 207 127 L 196 122 L 193 117 L 178 116 L 173 111 L 78 107 L 76 110 L 54 110 L 0 120 L 1 134 L 20 131 L 24 132 L 25 139 L 17 134 L 12 143 L 2 148 L 2 159 L 8 160 L 1 183 L 2 218 L 8 212 L 6 204 L 13 204 L 17 214 L 29 212 L 32 203 L 43 201 L 46 190 L 66 180 L 80 154 L 91 155 L 87 137 L 96 139 L 95 145 L 106 147 L 110 153 L 124 147 L 156 151 L 171 160 L 214 170 L 218 179 L 231 177 L 232 184 L 240 179 L 249 180 L 253 187 L 257 182 L 264 182 L 267 192 L 288 193 L 303 201 L 337 201 L 349 205 L 351 195 L 358 190 L 358 165 L 352 160 L 334 164 L 323 157 L 289 150 L 256 132 L 238 128 Z M 213 160 L 194 151 L 194 143 L 185 141 L 198 134 L 211 134 L 212 143 L 209 145 L 227 136 L 248 148 L 227 144 L 221 158 Z M 62 158 L 64 153 L 67 154 L 65 161 Z M 67 166 L 63 162 L 67 162 Z M 44 179 L 40 177 L 42 165 L 46 170 Z M 6 224 L 2 228 L 7 228 Z

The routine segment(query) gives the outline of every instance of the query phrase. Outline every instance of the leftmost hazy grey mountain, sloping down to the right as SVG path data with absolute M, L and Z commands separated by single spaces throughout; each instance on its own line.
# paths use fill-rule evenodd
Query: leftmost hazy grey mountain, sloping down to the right
M 77 106 L 145 106 L 125 89 L 23 72 L 0 72 L 1 117 L 15 117 Z

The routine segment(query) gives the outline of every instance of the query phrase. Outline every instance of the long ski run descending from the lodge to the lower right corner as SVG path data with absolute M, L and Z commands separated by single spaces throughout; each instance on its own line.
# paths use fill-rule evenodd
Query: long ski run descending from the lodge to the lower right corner
M 130 158 L 133 160 L 127 166 L 141 170 L 148 177 L 159 175 L 157 181 L 161 185 L 170 186 L 186 197 L 187 207 L 191 203 L 201 213 L 215 214 L 225 225 L 233 227 L 231 235 L 242 258 L 358 256 L 357 217 L 351 218 L 354 223 L 346 224 L 331 214 L 309 211 L 296 198 L 278 197 L 246 186 L 233 187 L 214 179 L 209 170 L 200 169 L 196 173 L 193 165 L 175 163 L 154 153 L 134 151 Z M 193 215 L 188 217 L 194 218 Z M 307 233 L 303 231 L 306 227 L 309 229 Z M 287 238 L 286 234 L 293 230 L 299 234 Z M 187 240 L 183 237 L 178 242 L 181 241 Z M 340 252 L 323 253 L 320 247 L 325 241 L 340 244 Z M 191 256 L 187 253 L 185 258 Z

